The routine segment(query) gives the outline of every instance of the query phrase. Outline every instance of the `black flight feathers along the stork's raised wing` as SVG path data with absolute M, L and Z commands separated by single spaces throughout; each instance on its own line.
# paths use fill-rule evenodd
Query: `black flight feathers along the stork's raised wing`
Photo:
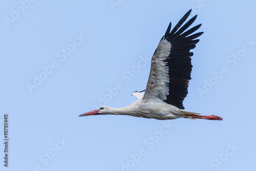
M 192 52 L 189 52 L 191 49 L 196 47 L 196 44 L 199 42 L 199 37 L 203 32 L 199 32 L 193 35 L 196 30 L 201 27 L 197 25 L 186 32 L 184 32 L 197 18 L 197 15 L 189 19 L 187 23 L 183 25 L 187 17 L 189 16 L 191 10 L 189 10 L 170 32 L 171 24 L 169 24 L 167 31 L 164 35 L 164 39 L 170 42 L 172 45 L 169 56 L 165 59 L 166 65 L 169 69 L 169 94 L 166 96 L 167 99 L 164 102 L 168 104 L 175 105 L 179 109 L 185 109 L 183 106 L 183 100 L 186 97 L 188 91 L 188 82 L 191 79 L 191 56 Z M 180 29 L 179 29 L 180 28 Z

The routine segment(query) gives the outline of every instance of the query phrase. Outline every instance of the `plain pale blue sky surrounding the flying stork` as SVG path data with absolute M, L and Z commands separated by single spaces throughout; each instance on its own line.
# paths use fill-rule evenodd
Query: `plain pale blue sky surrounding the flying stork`
M 1 1 L 1 170 L 255 170 L 256 1 Z M 145 89 L 169 22 L 202 24 L 185 110 L 78 115 Z M 41 79 L 40 79 L 41 78 Z M 39 80 L 40 79 L 40 80 Z M 9 163 L 4 166 L 4 114 Z

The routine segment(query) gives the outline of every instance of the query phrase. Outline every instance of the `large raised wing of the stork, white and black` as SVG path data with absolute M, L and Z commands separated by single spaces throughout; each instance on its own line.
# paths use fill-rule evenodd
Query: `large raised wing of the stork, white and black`
M 193 52 L 189 51 L 194 49 L 199 41 L 195 38 L 203 34 L 199 32 L 191 35 L 201 27 L 201 24 L 185 31 L 197 17 L 194 16 L 183 25 L 190 12 L 191 10 L 181 18 L 171 32 L 170 23 L 160 40 L 151 60 L 150 76 L 143 99 L 159 98 L 179 109 L 184 109 L 182 102 L 188 93 L 188 82 L 193 67 L 190 58 Z

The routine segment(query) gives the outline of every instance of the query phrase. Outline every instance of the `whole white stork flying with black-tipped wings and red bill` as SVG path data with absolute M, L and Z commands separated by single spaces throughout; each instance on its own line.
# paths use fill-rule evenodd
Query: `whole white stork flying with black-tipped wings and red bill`
M 202 116 L 184 110 L 182 102 L 188 93 L 192 70 L 190 57 L 193 56 L 193 52 L 189 51 L 194 49 L 199 41 L 195 38 L 203 34 L 203 32 L 192 34 L 201 27 L 201 24 L 185 31 L 197 17 L 194 16 L 183 25 L 190 12 L 191 9 L 172 31 L 170 31 L 171 23 L 169 24 L 152 57 L 146 89 L 132 93 L 138 98 L 137 101 L 125 108 L 102 106 L 98 110 L 79 116 L 112 114 L 160 120 L 177 118 L 222 120 L 219 116 Z

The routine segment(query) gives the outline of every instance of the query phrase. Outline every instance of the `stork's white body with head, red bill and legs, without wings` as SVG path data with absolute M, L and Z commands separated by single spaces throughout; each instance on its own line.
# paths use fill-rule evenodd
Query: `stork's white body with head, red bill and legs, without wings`
M 145 100 L 140 98 L 132 104 L 124 108 L 111 108 L 109 106 L 102 106 L 98 110 L 84 113 L 79 116 L 89 115 L 130 115 L 142 118 L 154 118 L 159 120 L 189 118 L 189 119 L 209 119 L 220 120 L 219 116 L 210 115 L 202 116 L 198 113 L 187 112 L 177 108 L 174 105 L 163 102 L 160 99 Z

